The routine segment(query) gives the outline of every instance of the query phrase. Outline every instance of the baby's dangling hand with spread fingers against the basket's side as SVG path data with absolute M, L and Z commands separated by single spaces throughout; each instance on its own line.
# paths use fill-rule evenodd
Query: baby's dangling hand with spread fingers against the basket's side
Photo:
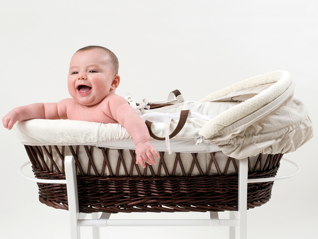
M 149 140 L 138 143 L 136 145 L 135 153 L 136 163 L 140 163 L 143 168 L 146 168 L 146 164 L 144 163 L 144 161 L 149 165 L 156 163 L 153 155 L 155 155 L 156 158 L 159 158 L 157 151 L 154 149 Z

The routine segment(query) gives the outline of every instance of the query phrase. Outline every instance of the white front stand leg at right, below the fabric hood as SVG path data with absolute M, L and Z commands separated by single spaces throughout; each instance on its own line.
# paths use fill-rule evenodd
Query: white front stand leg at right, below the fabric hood
M 246 239 L 247 212 L 247 158 L 239 160 L 239 239 Z

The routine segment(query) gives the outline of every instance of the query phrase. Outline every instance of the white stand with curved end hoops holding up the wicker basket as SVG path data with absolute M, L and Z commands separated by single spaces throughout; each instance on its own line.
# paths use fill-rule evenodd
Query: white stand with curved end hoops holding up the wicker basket
M 20 174 L 32 181 L 39 183 L 66 183 L 67 199 L 70 215 L 70 228 L 71 239 L 80 239 L 80 227 L 92 227 L 93 239 L 100 238 L 99 227 L 108 226 L 227 226 L 230 227 L 230 239 L 246 239 L 246 212 L 247 212 L 247 184 L 257 182 L 269 182 L 279 179 L 293 177 L 300 172 L 298 164 L 291 160 L 282 158 L 283 160 L 294 164 L 297 170 L 287 176 L 269 177 L 261 179 L 247 179 L 248 174 L 248 160 L 247 158 L 239 160 L 239 195 L 238 195 L 238 211 L 230 212 L 229 219 L 219 219 L 217 212 L 210 212 L 210 219 L 171 219 L 171 220 L 112 220 L 109 219 L 109 213 L 102 213 L 98 218 L 98 213 L 92 213 L 92 219 L 85 219 L 85 213 L 79 213 L 77 181 L 75 160 L 73 156 L 65 157 L 65 175 L 66 180 L 50 180 L 50 179 L 37 179 L 34 177 L 26 176 L 22 169 L 29 163 L 25 163 L 19 169 Z

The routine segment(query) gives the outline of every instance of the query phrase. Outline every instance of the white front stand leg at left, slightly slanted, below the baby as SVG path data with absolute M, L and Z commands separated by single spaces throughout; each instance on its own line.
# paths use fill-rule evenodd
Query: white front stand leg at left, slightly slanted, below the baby
M 80 228 L 77 225 L 77 220 L 79 219 L 79 205 L 74 157 L 66 156 L 64 162 L 68 211 L 70 215 L 71 239 L 80 239 Z

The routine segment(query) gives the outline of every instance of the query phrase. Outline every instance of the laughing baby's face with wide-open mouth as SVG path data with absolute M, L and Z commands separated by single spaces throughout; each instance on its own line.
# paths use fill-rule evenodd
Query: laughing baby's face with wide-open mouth
M 70 63 L 67 86 L 70 95 L 81 105 L 100 103 L 108 94 L 115 92 L 115 75 L 102 49 L 76 52 Z

